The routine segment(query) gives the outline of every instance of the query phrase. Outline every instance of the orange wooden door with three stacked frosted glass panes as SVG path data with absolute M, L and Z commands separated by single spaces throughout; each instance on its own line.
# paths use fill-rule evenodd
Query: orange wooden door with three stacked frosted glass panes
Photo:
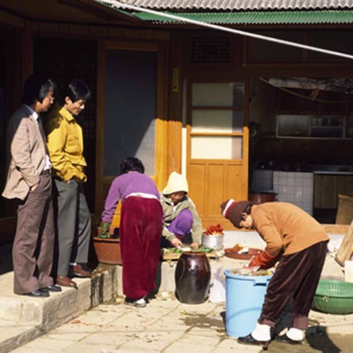
M 243 82 L 188 85 L 187 178 L 204 228 L 220 223 L 232 229 L 220 213 L 221 202 L 248 198 L 246 87 Z

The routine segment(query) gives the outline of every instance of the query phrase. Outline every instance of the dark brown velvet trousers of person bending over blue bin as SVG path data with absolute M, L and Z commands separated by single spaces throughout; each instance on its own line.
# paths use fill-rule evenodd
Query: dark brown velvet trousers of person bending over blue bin
M 309 236 L 309 234 L 308 234 Z M 271 278 L 258 322 L 275 326 L 283 309 L 293 299 L 291 327 L 308 328 L 308 316 L 325 262 L 327 242 L 295 254 L 282 256 Z

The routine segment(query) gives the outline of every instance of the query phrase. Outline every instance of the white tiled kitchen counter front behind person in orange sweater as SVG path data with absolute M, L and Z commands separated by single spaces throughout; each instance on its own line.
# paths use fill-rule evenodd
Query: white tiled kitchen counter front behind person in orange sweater
M 277 201 L 290 202 L 313 215 L 314 174 L 273 171 L 273 191 Z

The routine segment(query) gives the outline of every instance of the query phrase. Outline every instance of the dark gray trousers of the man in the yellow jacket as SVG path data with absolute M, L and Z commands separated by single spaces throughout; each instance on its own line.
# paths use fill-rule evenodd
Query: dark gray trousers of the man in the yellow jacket
M 54 179 L 57 231 L 57 275 L 67 276 L 70 262 L 86 263 L 91 236 L 91 215 L 82 184 Z

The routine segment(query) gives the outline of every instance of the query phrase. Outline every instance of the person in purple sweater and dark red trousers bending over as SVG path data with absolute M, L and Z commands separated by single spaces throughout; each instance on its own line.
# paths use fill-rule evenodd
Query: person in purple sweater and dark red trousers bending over
M 120 250 L 123 263 L 125 304 L 143 308 L 145 296 L 155 288 L 159 261 L 163 211 L 154 181 L 144 174 L 140 159 L 128 157 L 121 163 L 121 175 L 110 186 L 102 212 L 101 234 L 109 226 L 119 201 Z

